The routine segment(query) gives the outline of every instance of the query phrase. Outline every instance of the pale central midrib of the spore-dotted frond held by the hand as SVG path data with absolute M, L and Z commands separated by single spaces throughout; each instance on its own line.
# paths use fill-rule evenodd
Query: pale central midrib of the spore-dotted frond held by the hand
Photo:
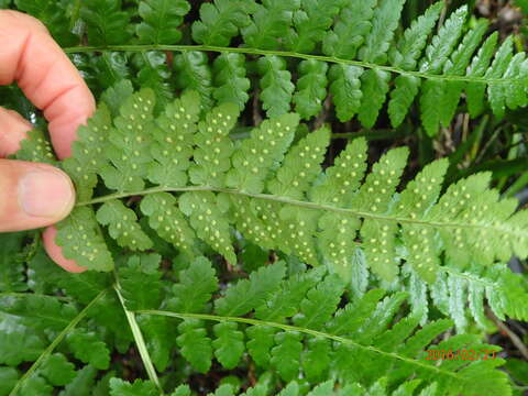
M 102 204 L 102 202 L 107 202 L 107 201 L 120 199 L 120 198 L 128 198 L 133 196 L 145 196 L 145 195 L 156 194 L 156 193 L 189 193 L 189 191 L 211 191 L 211 193 L 240 195 L 240 196 L 250 197 L 250 198 L 292 205 L 300 208 L 332 211 L 332 212 L 344 213 L 344 215 L 354 216 L 363 219 L 373 219 L 373 220 L 381 220 L 381 221 L 387 221 L 387 222 L 396 222 L 402 224 L 407 223 L 407 224 L 417 224 L 417 226 L 431 227 L 431 228 L 449 228 L 449 229 L 477 229 L 477 230 L 488 230 L 494 232 L 503 232 L 503 233 L 513 234 L 513 235 L 518 235 L 521 233 L 524 238 L 528 238 L 528 230 L 527 231 L 512 230 L 503 227 L 494 227 L 488 224 L 479 224 L 479 223 L 471 223 L 471 222 L 454 223 L 454 222 L 427 221 L 427 220 L 420 220 L 420 219 L 413 219 L 410 217 L 398 218 L 389 215 L 377 215 L 377 213 L 364 212 L 364 211 L 354 210 L 354 209 L 333 207 L 333 206 L 323 205 L 323 204 L 300 201 L 300 200 L 295 200 L 287 197 L 274 196 L 270 194 L 253 194 L 253 193 L 239 191 L 239 190 L 229 189 L 229 188 L 219 188 L 219 187 L 209 187 L 209 186 L 153 187 L 153 188 L 147 188 L 141 191 L 110 194 L 103 197 L 94 198 L 88 201 L 77 202 L 76 206 L 82 207 L 88 205 Z

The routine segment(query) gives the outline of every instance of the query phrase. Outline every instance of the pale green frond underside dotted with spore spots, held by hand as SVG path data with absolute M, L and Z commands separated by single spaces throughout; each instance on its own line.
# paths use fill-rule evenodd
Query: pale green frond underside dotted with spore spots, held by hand
M 112 121 L 102 103 L 79 130 L 73 158 L 62 164 L 75 180 L 78 202 L 58 224 L 57 242 L 81 266 L 113 267 L 103 230 L 122 248 L 150 249 L 138 223 L 142 216 L 189 256 L 206 243 L 235 264 L 234 229 L 262 248 L 324 264 L 344 279 L 351 278 L 358 248 L 386 280 L 396 277 L 402 260 L 432 282 L 441 258 L 463 266 L 528 255 L 527 212 L 515 212 L 515 199 L 499 200 L 486 173 L 441 195 L 448 162 L 440 160 L 396 193 L 406 147 L 387 152 L 365 177 L 366 143 L 355 140 L 322 170 L 330 131 L 310 132 L 290 147 L 299 125 L 294 113 L 233 141 L 234 105 L 201 117 L 199 96 L 190 92 L 158 117 L 154 106 L 154 92 L 144 89 L 130 95 Z M 42 142 L 26 141 L 19 157 L 46 160 Z M 98 177 L 109 190 L 94 197 Z M 134 196 L 143 196 L 138 205 L 121 200 Z

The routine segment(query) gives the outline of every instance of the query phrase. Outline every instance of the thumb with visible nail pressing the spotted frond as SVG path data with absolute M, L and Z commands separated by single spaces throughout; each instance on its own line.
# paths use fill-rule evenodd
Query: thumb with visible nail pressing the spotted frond
M 74 186 L 58 168 L 0 160 L 0 232 L 56 223 L 69 213 L 74 202 Z

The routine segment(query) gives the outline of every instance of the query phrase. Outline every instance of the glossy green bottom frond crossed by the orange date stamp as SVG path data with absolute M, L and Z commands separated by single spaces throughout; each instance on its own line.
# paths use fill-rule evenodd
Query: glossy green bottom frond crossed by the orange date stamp
M 196 261 L 184 272 L 194 273 L 205 265 L 205 261 Z M 439 320 L 417 329 L 417 316 L 396 320 L 407 299 L 405 293 L 384 298 L 383 290 L 372 290 L 337 310 L 344 292 L 337 275 L 315 268 L 285 278 L 284 270 L 283 263 L 275 263 L 253 273 L 250 279 L 230 285 L 223 296 L 208 305 L 206 312 L 209 314 L 163 310 L 139 314 L 183 320 L 177 338 L 180 352 L 200 372 L 211 366 L 213 355 L 223 367 L 233 369 L 248 351 L 258 367 L 276 372 L 285 382 L 299 375 L 317 381 L 315 378 L 331 372 L 340 387 L 359 382 L 367 387 L 388 389 L 404 387 L 403 383 L 414 377 L 427 380 L 427 384 L 436 383 L 438 395 L 460 392 L 479 395 L 480 385 L 473 381 L 486 373 L 486 381 L 496 394 L 507 394 L 505 374 L 494 369 L 502 364 L 501 360 L 488 364 L 425 360 L 424 351 L 428 348 L 479 351 L 495 348 L 481 345 L 476 337 L 465 336 L 435 344 L 435 339 L 452 326 L 451 321 Z M 188 283 L 186 276 L 180 283 Z M 177 288 L 180 283 L 176 284 Z M 210 289 L 200 294 L 211 296 Z M 299 306 L 288 304 L 286 312 L 279 308 L 282 298 L 301 301 Z M 207 326 L 210 321 L 216 322 L 212 328 Z M 381 377 L 385 381 L 376 382 Z M 327 391 L 333 388 L 320 386 Z

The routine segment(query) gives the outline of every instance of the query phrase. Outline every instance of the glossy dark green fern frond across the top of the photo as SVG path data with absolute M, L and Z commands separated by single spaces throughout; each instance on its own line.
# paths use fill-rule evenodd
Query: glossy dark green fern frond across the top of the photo
M 187 1 L 178 0 L 167 8 L 163 8 L 168 4 L 165 0 L 140 3 L 138 13 L 142 21 L 129 31 L 120 25 L 124 21 L 121 16 L 130 20 L 128 12 L 134 10 L 122 7 L 121 1 L 90 0 L 89 7 L 82 8 L 88 41 L 94 46 L 70 47 L 67 52 L 102 52 L 82 62 L 77 58 L 80 68 L 91 68 L 89 76 L 117 82 L 118 76 L 109 73 L 116 68 L 122 78 L 129 78 L 122 62 L 125 56 L 118 59 L 112 51 L 158 51 L 160 58 L 174 51 L 180 53 L 174 62 L 177 88 L 198 90 L 206 110 L 224 101 L 242 108 L 248 101 L 248 79 L 254 74 L 261 79 L 262 90 L 260 96 L 255 92 L 256 99 L 261 99 L 268 117 L 288 112 L 292 105 L 298 107 L 302 118 L 314 117 L 321 111 L 319 103 L 329 91 L 340 121 L 350 121 L 359 113 L 360 122 L 370 129 L 388 101 L 391 122 L 396 128 L 416 101 L 425 130 L 431 136 L 440 125 L 452 122 L 464 91 L 473 118 L 486 107 L 501 119 L 508 109 L 528 105 L 525 89 L 519 88 L 527 85 L 528 62 L 524 53 L 514 53 L 513 36 L 496 53 L 496 34 L 482 44 L 486 22 L 475 21 L 469 26 L 468 7 L 446 15 L 433 34 L 443 8 L 440 1 L 404 31 L 398 30 L 398 24 L 405 0 L 217 0 L 201 4 L 199 20 L 190 21 L 193 41 L 174 45 L 185 32 L 180 24 L 182 15 L 188 11 Z M 143 44 L 123 45 L 134 31 Z M 213 61 L 207 52 L 220 55 Z M 257 67 L 245 66 L 249 61 L 256 61 Z M 307 62 L 324 63 L 332 70 L 332 78 L 316 79 L 316 69 L 302 70 Z M 162 89 L 162 96 L 168 99 L 172 90 L 165 87 L 164 65 L 156 65 L 142 70 L 138 85 Z M 296 68 L 300 70 L 299 95 L 293 96 L 296 89 L 292 75 Z M 317 76 L 322 77 L 323 69 L 319 66 Z M 307 73 L 312 77 L 311 95 L 307 92 L 307 79 L 302 78 Z M 228 75 L 234 78 L 231 80 Z

